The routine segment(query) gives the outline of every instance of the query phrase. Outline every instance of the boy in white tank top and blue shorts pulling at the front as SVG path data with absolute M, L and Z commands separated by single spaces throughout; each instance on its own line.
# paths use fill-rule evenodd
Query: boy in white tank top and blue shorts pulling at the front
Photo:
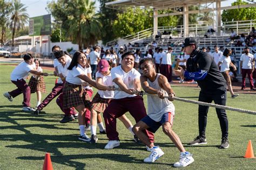
M 156 96 L 147 96 L 147 116 L 134 125 L 132 129 L 151 151 L 150 156 L 145 158 L 144 162 L 154 162 L 164 155 L 164 152 L 159 146 L 154 146 L 142 131 L 148 130 L 155 133 L 162 126 L 163 132 L 180 151 L 180 161 L 176 162 L 173 166 L 185 167 L 190 165 L 194 161 L 192 154 L 185 151 L 178 135 L 172 131 L 175 107 L 171 101 L 173 101 L 175 95 L 167 78 L 162 74 L 156 73 L 151 58 L 141 60 L 139 66 L 143 71 L 143 75 L 140 76 L 143 90 L 150 94 L 156 94 Z M 165 98 L 167 94 L 169 96 L 168 99 Z

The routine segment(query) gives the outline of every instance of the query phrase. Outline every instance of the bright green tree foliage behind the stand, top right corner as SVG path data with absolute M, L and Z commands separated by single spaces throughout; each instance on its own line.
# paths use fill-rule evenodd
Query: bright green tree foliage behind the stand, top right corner
M 248 4 L 242 0 L 237 0 L 237 2 L 232 3 L 231 5 L 244 5 Z M 221 19 L 223 22 L 228 21 L 246 21 L 251 19 L 256 19 L 256 8 L 238 8 L 238 9 L 231 9 L 231 10 L 223 10 L 221 15 Z

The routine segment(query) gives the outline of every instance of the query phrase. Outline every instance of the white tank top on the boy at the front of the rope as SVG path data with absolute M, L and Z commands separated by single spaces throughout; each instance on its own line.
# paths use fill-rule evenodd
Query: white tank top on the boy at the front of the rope
M 147 79 L 147 83 L 149 83 L 149 86 L 153 89 L 156 89 L 160 92 L 163 92 L 165 96 L 167 96 L 167 92 L 162 89 L 158 84 L 158 78 L 161 74 L 157 74 L 156 80 L 151 82 L 149 79 Z M 147 96 L 147 115 L 154 121 L 160 121 L 163 117 L 164 113 L 171 112 L 174 114 L 175 107 L 173 103 L 168 99 L 160 99 L 157 95 L 149 95 Z

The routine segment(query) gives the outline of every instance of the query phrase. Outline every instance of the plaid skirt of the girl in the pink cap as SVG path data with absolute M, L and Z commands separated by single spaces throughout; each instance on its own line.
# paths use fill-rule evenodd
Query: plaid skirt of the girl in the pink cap
M 107 108 L 107 105 L 109 105 L 110 100 L 111 99 L 105 99 L 100 97 L 99 93 L 97 93 L 95 97 L 92 99 L 91 108 L 96 112 L 103 113 Z

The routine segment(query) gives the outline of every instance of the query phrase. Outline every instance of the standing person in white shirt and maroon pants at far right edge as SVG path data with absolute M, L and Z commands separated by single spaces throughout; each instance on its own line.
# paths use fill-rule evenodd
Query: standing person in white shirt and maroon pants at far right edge
M 240 57 L 240 69 L 242 73 L 242 87 L 241 90 L 245 90 L 245 78 L 246 74 L 248 76 L 248 79 L 250 80 L 250 87 L 251 90 L 254 90 L 253 85 L 253 78 L 252 78 L 252 72 L 254 70 L 254 58 L 253 55 L 250 53 L 250 49 L 248 47 L 245 47 L 244 54 Z

